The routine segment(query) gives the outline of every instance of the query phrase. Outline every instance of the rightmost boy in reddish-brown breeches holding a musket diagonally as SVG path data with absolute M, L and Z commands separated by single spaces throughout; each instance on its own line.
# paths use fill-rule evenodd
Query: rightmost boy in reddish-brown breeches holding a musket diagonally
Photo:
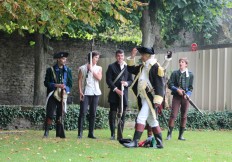
M 193 91 L 193 73 L 188 70 L 188 59 L 186 57 L 179 59 L 179 69 L 172 72 L 168 81 L 168 88 L 172 91 L 172 111 L 169 118 L 169 131 L 167 140 L 172 138 L 172 130 L 175 125 L 179 109 L 181 112 L 181 121 L 179 128 L 178 140 L 184 141 L 184 130 L 187 123 L 187 113 L 189 108 L 189 101 L 187 97 L 190 97 Z

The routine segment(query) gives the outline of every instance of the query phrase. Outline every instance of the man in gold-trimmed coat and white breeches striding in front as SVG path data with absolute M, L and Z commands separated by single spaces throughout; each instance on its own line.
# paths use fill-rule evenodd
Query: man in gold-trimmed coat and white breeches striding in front
M 136 66 L 134 58 L 137 51 L 141 54 L 141 61 L 143 63 Z M 128 148 L 138 147 L 138 141 L 142 136 L 146 121 L 152 127 L 156 147 L 163 148 L 162 134 L 157 120 L 156 108 L 163 101 L 164 71 L 157 60 L 151 57 L 153 54 L 153 48 L 134 48 L 131 56 L 127 59 L 128 71 L 135 75 L 134 82 L 131 86 L 134 94 L 137 96 L 139 107 L 133 141 L 123 143 Z

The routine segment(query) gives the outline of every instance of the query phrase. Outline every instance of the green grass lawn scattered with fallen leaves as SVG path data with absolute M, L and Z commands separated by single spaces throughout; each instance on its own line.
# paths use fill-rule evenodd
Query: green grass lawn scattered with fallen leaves
M 124 131 L 124 138 L 132 138 L 133 129 Z M 164 140 L 164 149 L 128 149 L 116 140 L 109 140 L 109 130 L 95 130 L 98 139 L 77 139 L 77 131 L 66 131 L 66 139 L 55 138 L 50 131 L 49 138 L 42 139 L 43 131 L 26 130 L 24 133 L 0 134 L 0 161 L 99 161 L 99 162 L 229 162 L 232 161 L 232 131 L 186 131 L 186 141 L 177 140 L 173 131 L 170 141 Z M 163 131 L 165 139 L 167 131 Z M 146 139 L 146 131 L 143 137 Z

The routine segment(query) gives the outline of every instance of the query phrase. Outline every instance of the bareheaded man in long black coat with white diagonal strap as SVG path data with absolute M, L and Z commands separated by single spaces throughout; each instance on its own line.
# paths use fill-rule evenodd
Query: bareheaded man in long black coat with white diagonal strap
M 111 131 L 111 140 L 115 139 L 115 121 L 116 115 L 121 118 L 121 130 L 124 128 L 125 113 L 128 106 L 128 87 L 131 85 L 133 79 L 132 75 L 127 71 L 127 65 L 124 62 L 124 51 L 119 49 L 115 53 L 116 61 L 108 66 L 106 71 L 106 83 L 110 88 L 108 102 L 110 103 L 109 111 L 109 125 Z M 123 112 L 121 112 L 121 86 L 124 86 L 123 91 Z M 122 132 L 117 133 L 117 139 L 122 139 Z

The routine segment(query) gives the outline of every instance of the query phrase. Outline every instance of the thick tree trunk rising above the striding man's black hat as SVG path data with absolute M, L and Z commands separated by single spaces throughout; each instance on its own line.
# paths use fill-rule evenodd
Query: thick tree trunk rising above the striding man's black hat
M 161 29 L 156 21 L 157 4 L 155 1 L 150 1 L 149 6 L 142 12 L 140 28 L 142 31 L 142 46 L 163 48 L 164 41 L 160 35 Z

